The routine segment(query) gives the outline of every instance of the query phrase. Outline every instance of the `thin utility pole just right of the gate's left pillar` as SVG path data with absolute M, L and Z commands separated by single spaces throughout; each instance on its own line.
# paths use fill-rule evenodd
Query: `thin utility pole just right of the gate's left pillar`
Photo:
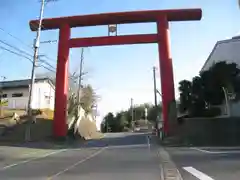
M 79 77 L 78 77 L 78 93 L 77 93 L 77 117 L 80 116 L 80 102 L 81 102 L 81 88 L 82 88 L 82 74 L 83 74 L 83 59 L 84 59 L 84 48 L 81 49 L 81 60 L 80 60 L 80 69 L 79 69 Z

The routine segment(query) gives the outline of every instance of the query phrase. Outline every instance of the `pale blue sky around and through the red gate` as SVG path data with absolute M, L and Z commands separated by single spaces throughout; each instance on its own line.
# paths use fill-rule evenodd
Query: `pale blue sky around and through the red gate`
M 29 21 L 39 17 L 39 0 L 7 0 L 0 2 L 0 40 L 33 54 L 36 36 Z M 97 14 L 105 12 L 202 8 L 201 21 L 170 23 L 176 98 L 178 82 L 198 75 L 199 70 L 219 40 L 239 35 L 240 8 L 237 0 L 57 0 L 48 2 L 44 17 Z M 106 26 L 74 28 L 71 37 L 106 36 Z M 156 33 L 155 23 L 118 26 L 118 34 Z M 58 40 L 58 30 L 43 31 L 41 41 Z M 0 76 L 7 80 L 29 78 L 31 63 L 11 54 L 0 43 Z M 70 71 L 79 68 L 81 51 L 70 51 Z M 56 67 L 57 43 L 42 43 L 40 55 Z M 108 112 L 129 108 L 134 104 L 153 103 L 152 67 L 157 66 L 157 88 L 161 91 L 159 57 L 156 44 L 89 47 L 84 51 L 84 83 L 91 84 L 100 96 L 98 122 Z M 47 70 L 38 68 L 37 73 Z M 158 97 L 161 101 L 161 97 Z

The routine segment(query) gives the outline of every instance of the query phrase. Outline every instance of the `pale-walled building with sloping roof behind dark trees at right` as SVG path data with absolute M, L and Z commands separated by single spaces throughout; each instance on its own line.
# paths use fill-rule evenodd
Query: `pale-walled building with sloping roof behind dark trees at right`
M 206 71 L 212 65 L 221 61 L 226 61 L 227 63 L 236 63 L 240 68 L 240 36 L 218 41 L 210 53 L 207 61 L 203 65 L 201 71 Z M 220 107 L 223 114 L 225 114 L 225 104 Z M 229 106 L 230 116 L 240 116 L 240 102 L 229 102 Z

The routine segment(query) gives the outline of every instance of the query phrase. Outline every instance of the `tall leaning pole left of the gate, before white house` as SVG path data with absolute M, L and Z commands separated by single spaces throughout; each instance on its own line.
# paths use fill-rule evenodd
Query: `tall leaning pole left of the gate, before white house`
M 30 120 L 32 119 L 32 94 L 33 94 L 33 86 L 34 86 L 34 82 L 35 82 L 35 67 L 36 67 L 36 62 L 38 59 L 39 40 L 40 40 L 40 34 L 41 34 L 41 28 L 42 28 L 44 4 L 45 4 L 45 0 L 42 0 L 37 36 L 34 41 L 34 55 L 33 55 L 33 64 L 32 64 L 31 83 L 30 83 L 30 87 L 29 87 L 28 109 L 27 109 L 28 117 L 29 117 L 29 125 L 27 126 L 27 129 L 25 132 L 25 140 L 26 141 L 30 140 Z

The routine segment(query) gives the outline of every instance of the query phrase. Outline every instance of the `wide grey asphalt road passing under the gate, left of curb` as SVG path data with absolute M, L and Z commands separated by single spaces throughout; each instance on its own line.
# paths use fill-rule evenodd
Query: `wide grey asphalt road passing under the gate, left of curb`
M 118 133 L 71 148 L 0 147 L 0 179 L 159 180 L 158 147 L 146 137 Z

